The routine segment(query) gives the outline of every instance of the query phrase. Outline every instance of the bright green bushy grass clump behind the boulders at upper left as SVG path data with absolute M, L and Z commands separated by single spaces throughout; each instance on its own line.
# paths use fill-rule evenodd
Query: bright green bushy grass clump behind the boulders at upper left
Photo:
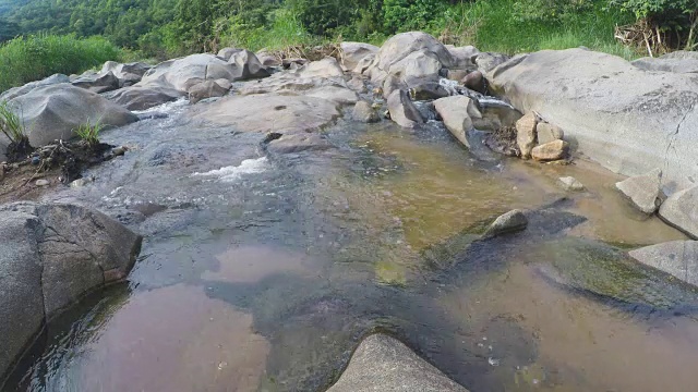
M 101 37 L 77 39 L 37 35 L 15 38 L 0 46 L 0 91 L 55 73 L 81 73 L 119 57 L 119 48 Z

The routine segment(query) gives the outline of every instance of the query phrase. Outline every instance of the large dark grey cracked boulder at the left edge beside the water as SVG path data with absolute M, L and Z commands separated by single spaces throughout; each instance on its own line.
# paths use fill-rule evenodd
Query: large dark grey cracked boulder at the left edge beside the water
M 46 321 L 127 277 L 141 236 L 74 205 L 0 206 L 0 380 Z

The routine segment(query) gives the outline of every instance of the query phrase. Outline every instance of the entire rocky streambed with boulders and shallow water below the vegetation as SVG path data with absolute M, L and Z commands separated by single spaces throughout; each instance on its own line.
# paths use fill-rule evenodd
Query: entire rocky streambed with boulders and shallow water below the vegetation
M 693 389 L 681 60 L 508 60 L 422 33 L 341 48 L 107 63 L 3 94 L 25 97 L 34 145 L 101 118 L 127 147 L 2 207 L 4 390 Z M 662 89 L 629 91 L 640 76 Z

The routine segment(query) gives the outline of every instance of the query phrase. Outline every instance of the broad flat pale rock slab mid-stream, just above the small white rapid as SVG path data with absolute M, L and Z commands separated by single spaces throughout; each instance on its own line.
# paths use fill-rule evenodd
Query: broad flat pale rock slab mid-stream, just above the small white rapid
M 241 132 L 285 134 L 318 131 L 340 115 L 338 105 L 302 95 L 227 96 L 201 108 L 197 119 Z

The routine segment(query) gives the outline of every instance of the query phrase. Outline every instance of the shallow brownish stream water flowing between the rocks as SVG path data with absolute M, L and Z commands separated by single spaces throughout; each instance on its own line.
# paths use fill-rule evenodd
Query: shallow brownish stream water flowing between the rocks
M 143 252 L 8 390 L 324 391 L 374 331 L 476 392 L 695 390 L 698 294 L 623 253 L 684 236 L 635 215 L 617 176 L 483 162 L 433 122 L 339 120 L 336 149 L 267 157 L 264 135 L 189 111 L 105 133 L 131 151 L 51 196 L 117 217 Z M 479 240 L 513 208 L 525 232 Z

